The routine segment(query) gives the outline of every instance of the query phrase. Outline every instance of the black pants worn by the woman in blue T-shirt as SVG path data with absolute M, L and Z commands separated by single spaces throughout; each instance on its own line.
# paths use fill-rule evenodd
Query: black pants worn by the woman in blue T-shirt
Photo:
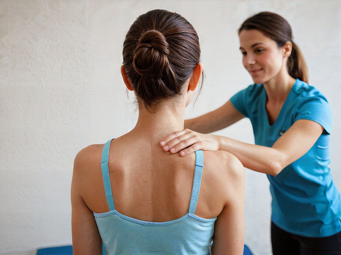
M 271 222 L 273 255 L 341 255 L 341 232 L 327 237 L 290 234 Z

